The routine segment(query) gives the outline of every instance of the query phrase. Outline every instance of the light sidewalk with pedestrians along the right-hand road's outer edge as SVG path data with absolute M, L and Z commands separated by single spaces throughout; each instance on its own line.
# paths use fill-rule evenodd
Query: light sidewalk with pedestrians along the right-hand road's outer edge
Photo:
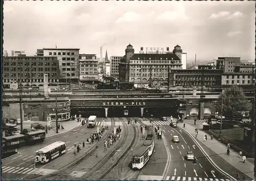
M 230 165 L 232 165 L 234 168 L 240 170 L 241 173 L 246 174 L 247 176 L 254 178 L 253 176 L 253 169 L 254 165 L 250 162 L 246 161 L 245 163 L 242 163 L 242 159 L 238 156 L 237 152 L 234 152 L 230 149 L 230 155 L 226 155 L 227 146 L 220 143 L 218 140 L 213 139 L 210 140 L 210 135 L 206 134 L 202 131 L 202 124 L 201 122 L 197 121 L 196 125 L 191 125 L 188 123 L 190 120 L 184 120 L 186 123 L 185 131 L 191 134 L 193 138 L 195 138 L 195 128 L 198 128 L 198 136 L 197 141 L 201 142 L 205 146 L 207 146 L 209 149 L 214 151 L 218 156 L 223 158 L 226 162 L 228 162 Z M 193 121 L 194 123 L 194 121 Z M 178 123 L 178 126 L 183 129 L 183 123 Z M 183 129 L 184 130 L 184 129 Z M 204 136 L 207 135 L 208 140 L 204 141 Z

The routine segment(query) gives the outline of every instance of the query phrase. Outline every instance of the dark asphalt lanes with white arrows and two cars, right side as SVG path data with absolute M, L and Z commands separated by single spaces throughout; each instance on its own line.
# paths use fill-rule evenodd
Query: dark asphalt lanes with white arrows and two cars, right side
M 180 128 L 173 128 L 168 125 L 162 125 L 163 135 L 167 141 L 167 145 L 170 151 L 170 167 L 169 167 L 169 179 L 183 179 L 197 180 L 201 179 L 227 179 L 225 175 L 216 170 L 214 166 L 207 160 L 204 153 L 196 146 L 193 139 L 182 131 Z M 179 136 L 180 142 L 174 143 L 172 141 L 173 136 Z M 196 157 L 197 163 L 186 160 L 186 152 L 193 151 Z M 175 171 L 176 170 L 176 171 Z

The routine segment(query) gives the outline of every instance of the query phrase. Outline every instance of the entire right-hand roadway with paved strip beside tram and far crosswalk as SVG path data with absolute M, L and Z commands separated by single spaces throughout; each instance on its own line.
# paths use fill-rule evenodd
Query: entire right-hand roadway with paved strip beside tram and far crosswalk
M 150 119 L 148 119 L 150 120 Z M 146 122 L 146 121 L 143 121 Z M 152 123 L 148 123 L 152 125 Z M 170 153 L 170 164 L 167 173 L 168 180 L 220 180 L 229 179 L 224 174 L 219 172 L 211 163 L 207 160 L 204 153 L 195 144 L 191 137 L 181 130 L 179 127 L 170 127 L 168 121 L 153 121 L 156 126 L 162 127 L 162 133 L 165 138 L 156 140 L 156 153 L 151 157 L 150 161 L 145 168 L 142 169 L 140 176 L 137 179 L 162 179 L 164 176 L 164 169 L 167 165 L 167 152 L 166 147 Z M 173 136 L 178 136 L 179 143 L 173 142 Z M 166 147 L 165 147 L 166 146 Z M 186 152 L 192 151 L 196 157 L 196 163 L 186 160 Z M 157 162 L 162 160 L 162 163 Z M 219 163 L 218 163 L 219 164 Z M 153 165 L 155 167 L 153 167 Z M 164 166 L 163 166 L 164 165 Z M 228 166 L 228 165 L 227 165 Z M 157 169 L 156 169 L 157 167 Z M 167 167 L 166 167 L 167 168 Z

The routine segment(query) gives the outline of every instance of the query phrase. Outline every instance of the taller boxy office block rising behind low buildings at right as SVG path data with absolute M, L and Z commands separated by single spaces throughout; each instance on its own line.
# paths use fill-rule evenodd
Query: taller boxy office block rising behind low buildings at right
M 218 57 L 216 69 L 224 70 L 224 73 L 234 72 L 234 67 L 240 65 L 240 57 Z

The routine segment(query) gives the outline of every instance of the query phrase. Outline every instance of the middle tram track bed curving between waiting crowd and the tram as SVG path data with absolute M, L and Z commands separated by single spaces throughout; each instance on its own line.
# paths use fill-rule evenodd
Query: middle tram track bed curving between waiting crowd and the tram
M 120 140 L 118 142 L 117 145 L 115 145 L 115 147 L 106 154 L 105 157 L 103 157 L 94 167 L 93 170 L 90 171 L 89 174 L 84 175 L 81 179 L 104 179 L 106 175 L 108 175 L 118 164 L 119 162 L 123 159 L 123 157 L 126 155 L 126 153 L 132 148 L 132 146 L 134 145 L 134 142 L 136 141 L 137 138 L 137 132 L 136 132 L 136 126 L 133 126 L 133 131 L 134 131 L 134 136 L 133 139 L 131 141 L 131 143 L 129 144 L 129 146 L 127 147 L 127 149 L 125 148 L 125 151 L 123 153 L 121 153 L 121 155 L 118 157 L 118 159 L 114 162 L 114 163 L 110 163 L 108 164 L 108 161 L 110 161 L 110 159 L 114 156 L 114 154 L 117 152 L 117 150 L 119 148 L 121 148 L 122 146 L 124 146 L 125 141 L 127 140 L 127 137 L 129 135 L 129 128 L 128 125 L 126 123 L 124 123 L 124 121 L 121 121 L 123 123 L 123 136 L 122 136 L 122 140 Z M 107 168 L 104 168 L 107 167 Z

